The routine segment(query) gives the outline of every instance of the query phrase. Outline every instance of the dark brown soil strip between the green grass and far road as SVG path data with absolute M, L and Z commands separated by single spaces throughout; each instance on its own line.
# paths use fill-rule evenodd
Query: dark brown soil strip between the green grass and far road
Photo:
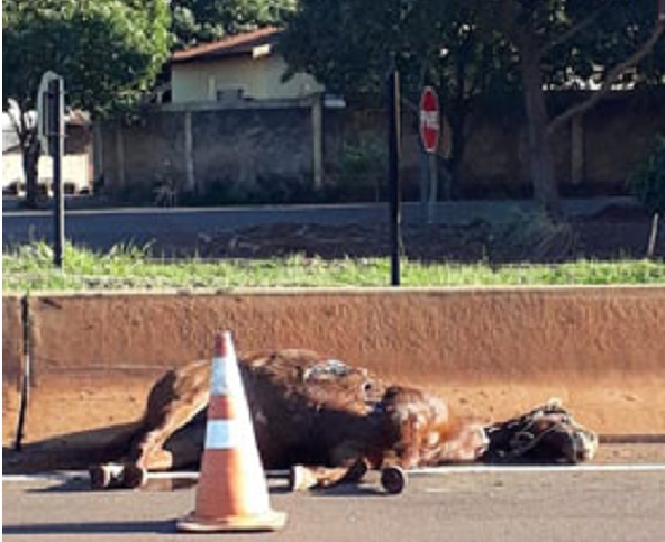
M 403 225 L 402 255 L 429 262 L 551 263 L 577 259 L 644 258 L 651 221 L 642 215 L 604 213 L 561 224 L 515 221 L 507 224 Z M 665 234 L 654 256 L 665 256 Z M 301 254 L 332 258 L 387 257 L 391 252 L 386 224 L 273 224 L 174 247 L 186 255 L 195 246 L 203 257 L 267 258 Z

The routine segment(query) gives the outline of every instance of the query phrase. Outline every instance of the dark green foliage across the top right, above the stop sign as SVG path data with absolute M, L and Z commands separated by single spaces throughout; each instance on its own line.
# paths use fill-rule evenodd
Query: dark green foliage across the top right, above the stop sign
M 395 54 L 407 93 L 429 81 L 449 96 L 460 85 L 494 94 L 520 85 L 520 33 L 543 51 L 545 84 L 567 85 L 625 60 L 653 31 L 656 8 L 657 0 L 386 0 L 370 12 L 364 0 L 301 0 L 283 49 L 294 70 L 339 92 L 382 90 Z M 664 74 L 661 40 L 633 76 L 662 83 Z

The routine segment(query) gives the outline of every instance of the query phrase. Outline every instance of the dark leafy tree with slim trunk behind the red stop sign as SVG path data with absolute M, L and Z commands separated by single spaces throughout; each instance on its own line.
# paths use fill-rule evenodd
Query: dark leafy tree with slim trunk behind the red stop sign
M 371 11 L 364 0 L 301 0 L 280 48 L 288 74 L 311 73 L 334 92 L 383 92 L 391 58 L 412 110 L 423 84 L 437 88 L 452 129 L 448 167 L 454 178 L 474 99 L 507 92 L 516 81 L 510 51 L 494 33 L 477 30 L 478 13 L 463 0 L 385 0 Z

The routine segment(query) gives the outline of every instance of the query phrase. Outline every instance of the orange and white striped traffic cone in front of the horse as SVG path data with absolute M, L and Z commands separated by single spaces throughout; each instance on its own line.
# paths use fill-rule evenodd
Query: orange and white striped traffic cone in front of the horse
M 274 531 L 286 514 L 270 508 L 238 362 L 225 331 L 215 340 L 211 400 L 194 511 L 177 529 L 196 532 Z

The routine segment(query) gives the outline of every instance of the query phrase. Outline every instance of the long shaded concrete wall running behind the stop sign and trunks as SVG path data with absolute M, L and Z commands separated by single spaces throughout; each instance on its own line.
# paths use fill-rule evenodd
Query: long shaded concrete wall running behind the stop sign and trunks
M 385 198 L 387 119 L 380 100 L 372 109 L 369 104 L 325 109 L 320 137 L 319 129 L 313 129 L 316 100 L 174 103 L 146 112 L 131 126 L 108 123 L 98 145 L 106 191 L 150 193 L 155 183 L 171 176 L 181 192 L 196 187 L 205 193 L 216 184 L 205 200 L 209 204 L 256 201 L 255 196 L 262 196 L 262 202 L 311 201 L 320 186 L 351 201 L 377 194 Z M 573 100 L 571 95 L 564 101 Z M 405 108 L 402 113 L 402 192 L 413 200 L 419 194 L 422 156 L 416 112 Z M 626 194 L 627 176 L 663 126 L 665 100 L 641 93 L 617 93 L 569 123 L 555 140 L 563 194 Z M 505 110 L 479 108 L 467 132 L 467 152 L 453 193 L 530 197 L 521 104 L 513 101 Z M 313 166 L 317 152 L 323 167 L 318 180 Z M 359 155 L 365 156 L 360 166 Z M 347 165 L 354 160 L 355 173 L 349 177 Z M 443 194 L 443 181 L 441 185 Z

